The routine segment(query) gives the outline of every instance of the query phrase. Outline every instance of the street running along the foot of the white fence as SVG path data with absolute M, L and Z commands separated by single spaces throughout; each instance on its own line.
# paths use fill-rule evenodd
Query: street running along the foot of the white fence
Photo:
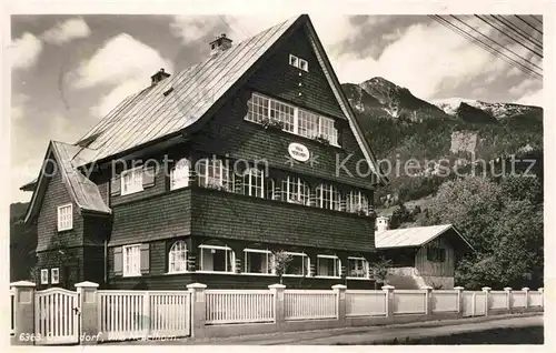
M 228 339 L 178 341 L 126 342 L 123 344 L 322 344 L 322 345 L 357 345 L 357 344 L 391 344 L 417 341 L 427 337 L 439 337 L 470 332 L 484 332 L 496 329 L 526 329 L 543 326 L 542 314 L 504 315 L 496 317 L 474 317 L 464 320 L 446 320 L 426 323 L 411 323 L 388 326 L 349 327 L 337 330 L 319 330 L 306 332 L 289 332 L 265 335 L 237 336 Z M 394 342 L 396 340 L 396 342 Z M 410 342 L 409 341 L 409 342 Z M 530 342 L 524 342 L 530 343 Z M 120 343 L 122 344 L 122 343 Z

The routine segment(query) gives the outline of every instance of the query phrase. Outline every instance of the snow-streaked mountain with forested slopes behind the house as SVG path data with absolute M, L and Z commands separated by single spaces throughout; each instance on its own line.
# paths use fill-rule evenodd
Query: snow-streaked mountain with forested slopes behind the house
M 401 167 L 399 174 L 390 173 L 390 185 L 377 192 L 379 205 L 381 199 L 428 196 L 444 181 L 455 178 L 455 173 L 440 178 L 443 167 L 468 173 L 481 165 L 479 159 L 494 163 L 533 155 L 537 161 L 534 171 L 542 176 L 539 107 L 460 98 L 427 102 L 384 78 L 344 83 L 342 89 L 378 158 L 388 160 L 390 170 Z M 414 161 L 411 172 L 405 172 L 409 160 Z M 492 174 L 496 168 L 481 171 Z

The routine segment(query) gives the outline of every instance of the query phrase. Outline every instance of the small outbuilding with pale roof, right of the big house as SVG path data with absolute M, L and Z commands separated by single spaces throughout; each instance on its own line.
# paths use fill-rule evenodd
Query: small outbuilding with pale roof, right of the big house
M 451 224 L 388 229 L 388 218 L 377 218 L 375 246 L 393 264 L 386 282 L 400 290 L 423 286 L 454 289 L 458 259 L 473 246 Z

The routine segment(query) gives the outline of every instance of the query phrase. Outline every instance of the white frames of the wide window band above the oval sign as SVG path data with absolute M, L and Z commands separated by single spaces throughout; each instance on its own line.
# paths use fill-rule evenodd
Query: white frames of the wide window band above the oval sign
M 266 105 L 264 105 L 266 104 Z M 271 117 L 271 110 L 276 111 L 276 105 L 284 105 L 285 109 L 292 109 L 294 110 L 294 117 L 292 117 L 292 123 L 289 119 L 289 113 L 278 113 L 278 118 Z M 274 113 L 276 114 L 276 113 Z M 310 130 L 311 132 L 306 132 L 307 129 L 300 129 L 300 125 L 302 127 L 304 124 L 300 123 L 300 117 L 305 117 L 304 119 L 309 119 L 308 117 L 314 117 L 315 123 L 317 124 L 316 129 Z M 288 117 L 288 119 L 286 119 Z M 284 118 L 284 119 L 281 119 Z M 304 137 L 304 138 L 309 138 L 314 139 L 317 137 L 324 137 L 328 140 L 328 142 L 331 145 L 339 147 L 338 144 L 338 129 L 335 128 L 334 119 L 328 118 L 328 117 L 322 117 L 320 114 L 317 114 L 315 112 L 311 112 L 307 109 L 302 109 L 292 104 L 285 103 L 282 101 L 276 100 L 274 98 L 266 97 L 264 94 L 254 92 L 251 94 L 251 99 L 248 102 L 248 112 L 246 117 L 244 118 L 247 121 L 256 122 L 256 123 L 261 123 L 262 120 L 269 119 L 269 120 L 277 120 L 280 121 L 284 127 L 282 131 L 286 131 L 288 133 L 298 135 L 298 137 Z M 310 120 L 310 119 L 309 119 Z M 307 121 L 309 121 L 307 120 Z M 309 131 L 309 130 L 307 130 Z

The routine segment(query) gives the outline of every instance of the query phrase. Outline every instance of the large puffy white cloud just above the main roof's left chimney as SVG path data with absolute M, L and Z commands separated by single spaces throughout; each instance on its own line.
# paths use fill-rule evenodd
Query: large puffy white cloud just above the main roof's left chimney
M 107 40 L 95 54 L 82 62 L 71 84 L 78 89 L 111 85 L 112 90 L 99 99 L 91 109 L 96 117 L 103 117 L 127 95 L 150 84 L 150 77 L 163 68 L 173 72 L 173 63 L 151 47 L 127 33 Z

